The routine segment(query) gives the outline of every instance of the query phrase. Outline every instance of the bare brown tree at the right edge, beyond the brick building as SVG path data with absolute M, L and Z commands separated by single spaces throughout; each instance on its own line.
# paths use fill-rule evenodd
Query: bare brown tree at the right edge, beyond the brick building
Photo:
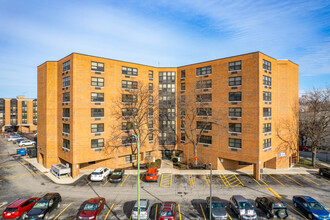
M 300 115 L 300 130 L 311 143 L 312 164 L 315 166 L 317 149 L 330 135 L 330 88 L 307 92 L 304 103 L 307 111 Z

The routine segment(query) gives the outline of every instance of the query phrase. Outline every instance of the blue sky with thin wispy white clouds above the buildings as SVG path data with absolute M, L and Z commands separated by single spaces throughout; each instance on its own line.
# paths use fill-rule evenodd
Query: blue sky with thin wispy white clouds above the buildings
M 330 82 L 330 1 L 0 3 L 0 97 L 36 97 L 37 66 L 72 52 L 180 66 L 261 51 L 299 64 L 300 93 Z

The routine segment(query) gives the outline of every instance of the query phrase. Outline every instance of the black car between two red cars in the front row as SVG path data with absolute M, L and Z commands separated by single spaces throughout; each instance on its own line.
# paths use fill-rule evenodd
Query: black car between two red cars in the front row
M 61 207 L 62 198 L 59 193 L 47 193 L 26 214 L 25 219 L 49 219 L 50 213 Z

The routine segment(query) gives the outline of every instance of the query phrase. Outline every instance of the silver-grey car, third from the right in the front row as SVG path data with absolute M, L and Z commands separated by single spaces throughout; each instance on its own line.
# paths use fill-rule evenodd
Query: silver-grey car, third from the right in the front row
M 257 213 L 253 205 L 243 196 L 234 195 L 230 198 L 230 209 L 232 209 L 239 219 L 257 219 Z

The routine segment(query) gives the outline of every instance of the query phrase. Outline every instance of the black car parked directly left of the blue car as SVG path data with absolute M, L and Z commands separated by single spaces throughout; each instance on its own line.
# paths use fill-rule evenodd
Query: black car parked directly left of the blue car
M 287 218 L 288 211 L 285 204 L 276 197 L 257 197 L 256 207 L 266 213 L 267 218 Z

